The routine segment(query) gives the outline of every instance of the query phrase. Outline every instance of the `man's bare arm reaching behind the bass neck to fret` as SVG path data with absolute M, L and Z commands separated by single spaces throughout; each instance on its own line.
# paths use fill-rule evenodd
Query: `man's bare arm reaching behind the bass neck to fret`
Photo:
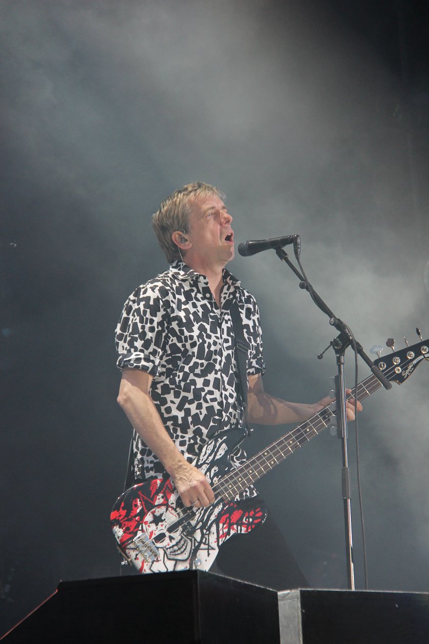
M 326 396 L 318 403 L 288 403 L 280 398 L 271 396 L 264 391 L 260 374 L 249 376 L 248 410 L 249 421 L 260 425 L 282 425 L 288 422 L 306 421 L 315 413 L 331 404 L 333 400 Z M 362 406 L 358 401 L 358 412 Z M 347 401 L 347 419 L 354 420 L 354 400 Z

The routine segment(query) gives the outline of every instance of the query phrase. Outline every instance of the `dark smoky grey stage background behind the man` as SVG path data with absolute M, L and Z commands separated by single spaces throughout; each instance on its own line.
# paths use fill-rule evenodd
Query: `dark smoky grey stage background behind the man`
M 109 511 L 131 428 L 113 333 L 165 269 L 150 223 L 173 189 L 219 185 L 237 242 L 299 233 L 309 279 L 367 352 L 413 344 L 416 326 L 429 336 L 429 11 L 1 0 L 0 13 L 3 632 L 60 579 L 118 573 Z M 325 395 L 327 318 L 273 252 L 231 267 L 259 301 L 266 390 Z M 428 385 L 425 364 L 360 415 L 371 589 L 429 591 Z M 261 428 L 248 450 L 286 429 Z M 326 431 L 260 482 L 313 587 L 346 584 L 340 471 Z

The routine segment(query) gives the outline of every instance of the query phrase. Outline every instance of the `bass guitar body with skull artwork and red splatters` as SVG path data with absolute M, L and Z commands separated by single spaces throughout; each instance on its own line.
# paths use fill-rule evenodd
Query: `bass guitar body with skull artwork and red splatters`
M 208 442 L 194 465 L 212 488 L 232 469 L 230 454 L 241 442 L 238 430 Z M 232 494 L 232 493 L 230 493 Z M 155 478 L 127 489 L 111 512 L 111 526 L 122 554 L 140 573 L 197 568 L 207 571 L 230 536 L 246 534 L 264 522 L 257 500 L 235 501 L 227 493 L 206 508 L 183 507 L 170 478 Z

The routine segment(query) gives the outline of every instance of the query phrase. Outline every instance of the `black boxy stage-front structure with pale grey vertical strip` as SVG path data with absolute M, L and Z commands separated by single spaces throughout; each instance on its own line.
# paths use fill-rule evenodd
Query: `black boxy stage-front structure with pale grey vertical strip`
M 199 571 L 60 582 L 3 641 L 428 644 L 429 594 L 277 592 Z

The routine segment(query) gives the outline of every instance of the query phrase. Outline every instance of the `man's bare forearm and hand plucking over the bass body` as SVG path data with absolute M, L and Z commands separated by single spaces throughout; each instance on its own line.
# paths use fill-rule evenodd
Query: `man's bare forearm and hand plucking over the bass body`
M 124 369 L 118 403 L 141 440 L 160 459 L 185 506 L 208 506 L 214 493 L 205 475 L 187 462 L 170 438 L 151 398 L 152 376 L 140 369 Z

